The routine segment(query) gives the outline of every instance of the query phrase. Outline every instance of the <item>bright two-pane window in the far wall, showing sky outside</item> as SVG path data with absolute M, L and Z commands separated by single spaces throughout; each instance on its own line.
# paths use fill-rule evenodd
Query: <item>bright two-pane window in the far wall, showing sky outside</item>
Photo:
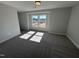
M 47 20 L 46 14 L 32 15 L 32 27 L 46 28 L 47 25 L 46 20 Z

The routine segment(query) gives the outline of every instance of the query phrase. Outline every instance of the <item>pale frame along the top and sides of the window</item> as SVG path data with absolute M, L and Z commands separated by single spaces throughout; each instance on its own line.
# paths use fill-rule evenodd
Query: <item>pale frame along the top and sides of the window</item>
M 49 22 L 50 22 L 50 18 L 49 18 L 49 15 L 50 15 L 50 11 L 44 11 L 44 12 L 28 12 L 28 13 L 26 13 L 27 14 L 27 25 L 28 25 L 28 30 L 29 29 L 31 29 L 31 25 L 30 25 L 30 17 L 31 17 L 31 15 L 32 14 L 47 14 L 47 28 L 46 29 L 44 29 L 44 31 L 49 31 Z M 34 29 L 34 28 L 32 28 L 32 29 Z

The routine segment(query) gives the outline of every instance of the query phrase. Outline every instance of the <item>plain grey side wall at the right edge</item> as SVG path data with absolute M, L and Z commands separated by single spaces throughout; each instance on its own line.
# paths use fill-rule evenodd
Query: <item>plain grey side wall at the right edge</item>
M 72 8 L 67 34 L 71 41 L 79 48 L 79 4 Z

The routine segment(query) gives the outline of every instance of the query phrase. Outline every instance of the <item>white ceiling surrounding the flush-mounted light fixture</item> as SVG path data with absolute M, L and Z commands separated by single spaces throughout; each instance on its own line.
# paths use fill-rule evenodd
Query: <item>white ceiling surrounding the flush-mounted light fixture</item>
M 0 1 L 0 3 L 17 8 L 18 11 L 34 11 L 44 9 L 54 9 L 72 7 L 79 1 L 42 1 L 39 8 L 35 8 L 34 1 Z

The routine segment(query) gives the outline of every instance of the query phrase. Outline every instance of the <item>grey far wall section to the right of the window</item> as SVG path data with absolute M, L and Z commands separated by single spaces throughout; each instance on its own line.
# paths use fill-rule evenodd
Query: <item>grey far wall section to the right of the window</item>
M 72 8 L 54 9 L 50 12 L 49 31 L 57 34 L 65 34 Z

